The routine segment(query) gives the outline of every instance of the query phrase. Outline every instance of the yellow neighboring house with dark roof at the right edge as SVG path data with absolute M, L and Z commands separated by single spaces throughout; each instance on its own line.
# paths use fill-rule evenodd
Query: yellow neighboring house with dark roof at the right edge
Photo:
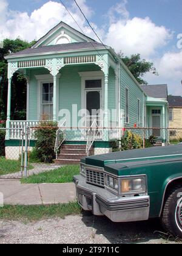
M 169 101 L 169 131 L 170 140 L 182 138 L 182 97 L 170 96 Z M 178 130 L 177 130 L 178 128 Z M 179 129 L 181 128 L 181 130 Z

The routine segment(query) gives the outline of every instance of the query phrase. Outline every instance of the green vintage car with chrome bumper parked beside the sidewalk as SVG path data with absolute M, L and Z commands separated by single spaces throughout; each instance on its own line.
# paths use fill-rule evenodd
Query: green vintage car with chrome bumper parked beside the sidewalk
M 182 237 L 182 145 L 95 155 L 74 176 L 78 203 L 114 222 L 160 218 Z

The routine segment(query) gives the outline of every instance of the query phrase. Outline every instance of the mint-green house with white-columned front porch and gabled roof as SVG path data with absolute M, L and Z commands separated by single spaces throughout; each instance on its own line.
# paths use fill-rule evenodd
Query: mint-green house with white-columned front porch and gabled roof
M 104 115 L 88 114 L 87 127 L 96 124 L 110 127 L 110 121 L 120 128 L 152 124 L 161 128 L 168 126 L 167 96 L 162 94 L 158 97 L 160 86 L 155 87 L 155 95 L 150 94 L 150 86 L 141 87 L 112 48 L 86 37 L 63 22 L 32 48 L 10 54 L 6 59 L 7 127 L 36 126 L 45 116 L 54 121 L 61 119 L 63 122 L 59 126 L 80 127 L 77 125 L 81 117 L 76 113 L 84 108 L 89 113 L 92 109 L 104 111 Z M 24 122 L 10 120 L 11 82 L 15 72 L 27 77 L 27 121 Z M 153 91 L 154 87 L 151 88 Z M 167 91 L 166 86 L 162 88 Z M 67 118 L 64 123 L 64 110 L 69 110 L 71 123 Z M 93 143 L 94 154 L 111 152 L 112 141 L 120 138 L 121 130 L 101 131 L 100 137 Z M 153 133 L 163 143 L 167 141 L 165 130 L 155 130 Z M 65 143 L 84 144 L 88 149 L 88 134 L 86 129 L 68 131 Z M 152 131 L 147 135 L 150 134 Z M 15 133 L 7 133 L 7 157 L 9 147 L 19 146 L 18 140 L 17 133 L 16 136 Z M 33 140 L 31 142 L 33 145 Z

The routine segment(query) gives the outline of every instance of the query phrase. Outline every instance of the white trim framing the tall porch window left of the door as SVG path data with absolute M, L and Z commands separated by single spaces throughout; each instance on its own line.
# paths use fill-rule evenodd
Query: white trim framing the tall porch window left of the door
M 41 102 L 42 102 L 42 94 L 41 94 L 41 88 L 42 88 L 42 84 L 45 84 L 45 83 L 53 83 L 53 76 L 51 74 L 44 74 L 44 75 L 36 75 L 36 80 L 38 80 L 38 112 L 37 112 L 37 117 L 38 117 L 38 120 L 41 120 Z M 58 113 L 59 113 L 59 78 L 61 77 L 61 74 L 59 73 L 57 75 L 57 91 L 56 91 L 56 101 L 57 101 L 57 113 L 56 113 L 56 116 L 57 116 L 57 119 L 58 119 Z

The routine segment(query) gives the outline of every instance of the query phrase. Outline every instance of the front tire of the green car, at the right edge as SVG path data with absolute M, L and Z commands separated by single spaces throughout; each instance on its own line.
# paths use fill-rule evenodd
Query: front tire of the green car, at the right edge
M 182 185 L 175 185 L 167 193 L 161 222 L 167 233 L 182 238 Z

